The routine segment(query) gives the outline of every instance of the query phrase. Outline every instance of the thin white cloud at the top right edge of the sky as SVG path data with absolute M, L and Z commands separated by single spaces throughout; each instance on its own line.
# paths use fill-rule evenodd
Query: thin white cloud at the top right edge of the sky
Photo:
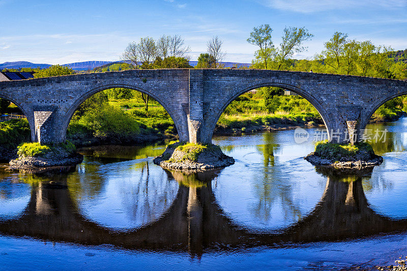
M 258 0 L 258 2 L 270 8 L 299 13 L 372 6 L 387 9 L 407 7 L 407 0 Z

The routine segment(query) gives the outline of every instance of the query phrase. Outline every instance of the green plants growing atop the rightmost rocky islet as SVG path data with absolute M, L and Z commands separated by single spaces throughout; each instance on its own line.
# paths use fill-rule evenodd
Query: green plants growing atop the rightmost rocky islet
M 319 141 L 315 144 L 314 155 L 323 159 L 338 159 L 341 157 L 350 157 L 356 159 L 361 152 L 374 154 L 371 145 L 360 142 L 355 145 L 330 143 L 328 140 Z

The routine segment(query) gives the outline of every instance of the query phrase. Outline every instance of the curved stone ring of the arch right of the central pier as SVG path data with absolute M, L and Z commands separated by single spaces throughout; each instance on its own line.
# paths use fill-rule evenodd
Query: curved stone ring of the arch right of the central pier
M 259 88 L 259 87 L 267 87 L 267 86 L 271 86 L 271 87 L 281 87 L 281 88 L 285 88 L 288 89 L 290 91 L 293 91 L 299 95 L 301 95 L 301 97 L 305 98 L 309 103 L 312 104 L 312 106 L 315 107 L 315 109 L 318 111 L 319 115 L 321 115 L 325 127 L 327 129 L 328 132 L 328 138 L 330 138 L 330 134 L 329 131 L 331 131 L 333 124 L 331 123 L 332 118 L 329 118 L 328 116 L 328 112 L 325 110 L 325 108 L 318 102 L 318 100 L 313 97 L 310 93 L 304 91 L 303 89 L 294 86 L 293 84 L 290 83 L 284 83 L 284 82 L 275 82 L 275 81 L 270 81 L 270 82 L 265 82 L 265 83 L 257 83 L 257 84 L 252 84 L 249 87 L 245 87 L 243 89 L 241 89 L 240 91 L 234 93 L 230 98 L 228 98 L 228 100 L 223 104 L 223 106 L 220 108 L 220 110 L 213 116 L 212 121 L 210 122 L 211 127 L 210 127 L 210 131 L 211 131 L 211 135 L 210 138 L 213 137 L 213 133 L 215 131 L 215 127 L 217 122 L 219 121 L 220 116 L 222 115 L 223 111 L 226 109 L 226 107 L 233 102 L 234 100 L 236 100 L 239 96 L 241 96 L 242 94 L 245 94 L 249 91 L 251 91 L 252 89 L 255 88 Z

